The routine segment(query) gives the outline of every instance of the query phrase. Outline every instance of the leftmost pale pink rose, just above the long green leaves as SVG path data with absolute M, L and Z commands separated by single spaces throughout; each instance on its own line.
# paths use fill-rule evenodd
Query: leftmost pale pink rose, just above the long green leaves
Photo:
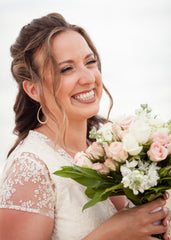
M 75 154 L 73 162 L 75 165 L 85 168 L 91 168 L 93 165 L 88 156 L 83 151 Z

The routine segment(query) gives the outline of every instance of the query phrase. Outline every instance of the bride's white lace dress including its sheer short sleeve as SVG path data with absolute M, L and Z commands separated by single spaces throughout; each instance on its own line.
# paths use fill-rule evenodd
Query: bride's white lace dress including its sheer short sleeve
M 54 219 L 52 240 L 80 240 L 116 213 L 110 200 L 82 212 L 89 200 L 84 186 L 54 175 L 72 165 L 63 149 L 30 131 L 6 162 L 0 179 L 0 208 L 43 214 Z

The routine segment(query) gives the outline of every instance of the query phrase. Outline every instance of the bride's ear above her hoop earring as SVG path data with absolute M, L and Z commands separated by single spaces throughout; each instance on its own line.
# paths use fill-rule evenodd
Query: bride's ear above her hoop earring
M 30 98 L 37 102 L 40 102 L 38 86 L 36 83 L 25 80 L 23 82 L 23 89 Z

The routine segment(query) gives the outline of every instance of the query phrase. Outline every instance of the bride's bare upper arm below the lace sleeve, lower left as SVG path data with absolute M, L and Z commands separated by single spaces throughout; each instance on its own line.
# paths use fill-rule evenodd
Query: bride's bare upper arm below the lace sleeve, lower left
M 1 240 L 49 240 L 54 220 L 42 214 L 0 209 Z

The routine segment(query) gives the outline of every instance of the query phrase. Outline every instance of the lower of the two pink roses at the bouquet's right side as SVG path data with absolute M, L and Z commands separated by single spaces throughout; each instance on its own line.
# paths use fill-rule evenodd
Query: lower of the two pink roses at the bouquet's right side
M 149 151 L 147 152 L 148 157 L 153 162 L 160 162 L 166 159 L 168 155 L 167 148 L 163 147 L 160 143 L 152 143 Z

